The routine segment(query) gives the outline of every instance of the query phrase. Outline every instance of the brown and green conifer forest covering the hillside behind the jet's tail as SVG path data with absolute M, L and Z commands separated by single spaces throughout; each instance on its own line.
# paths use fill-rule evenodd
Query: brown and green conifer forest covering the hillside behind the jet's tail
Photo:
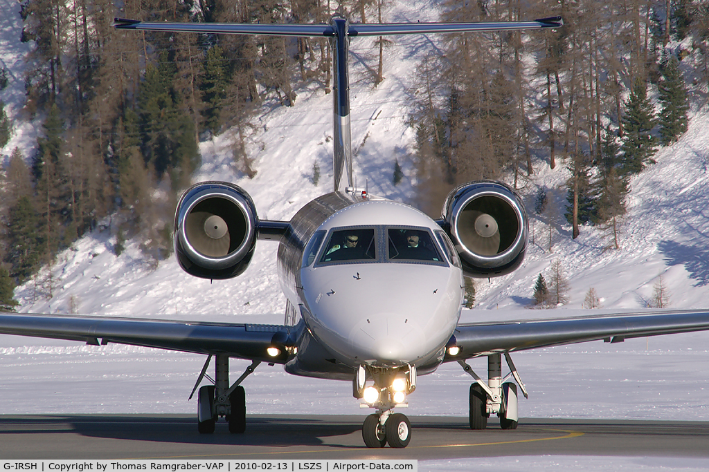
M 562 16 L 564 27 L 450 35 L 420 57 L 408 120 L 418 205 L 432 216 L 459 183 L 495 178 L 520 188 L 540 166 L 564 166 L 562 212 L 573 236 L 584 225 L 613 228 L 630 176 L 681 137 L 691 107 L 708 103 L 707 0 L 441 4 L 441 21 Z M 24 0 L 18 8 L 21 40 L 33 45 L 23 113 L 43 125 L 35 149 L 15 149 L 1 169 L 0 287 L 28 280 L 106 218 L 116 251 L 138 237 L 150 258 L 167 257 L 199 142 L 228 130 L 235 166 L 255 175 L 254 110 L 267 99 L 294 105 L 302 84 L 333 86 L 325 39 L 137 33 L 114 29 L 114 17 L 327 23 L 344 11 L 351 21 L 389 21 L 386 0 Z M 387 41 L 372 54 L 372 87 L 394 53 Z M 0 146 L 13 130 L 3 108 Z M 535 211 L 544 202 L 541 189 Z

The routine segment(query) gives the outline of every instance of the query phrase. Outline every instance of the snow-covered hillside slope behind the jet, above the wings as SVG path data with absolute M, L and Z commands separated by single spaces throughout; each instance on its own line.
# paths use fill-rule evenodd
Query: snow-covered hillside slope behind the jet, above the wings
M 9 0 L 0 0 L 9 1 Z M 399 2 L 387 12 L 389 21 L 431 21 L 437 8 L 430 0 Z M 9 46 L 4 61 L 18 62 L 26 50 L 11 41 L 18 33 L 18 18 L 4 28 Z M 435 47 L 435 37 L 394 38 L 386 50 L 384 76 L 372 86 L 372 64 L 376 64 L 373 40 L 352 42 L 352 141 L 356 178 L 372 194 L 412 202 L 415 197 L 413 163 L 414 132 L 406 124 L 418 58 Z M 10 46 L 11 45 L 11 46 Z M 15 84 L 16 88 L 17 84 Z M 15 88 L 13 99 L 21 100 Z M 291 108 L 267 104 L 256 123 L 258 132 L 250 145 L 250 157 L 257 175 L 253 179 L 235 170 L 231 137 L 227 132 L 201 143 L 203 165 L 194 176 L 199 180 L 228 180 L 252 195 L 259 216 L 290 219 L 306 202 L 331 190 L 332 115 L 330 95 L 320 88 L 304 87 Z M 17 108 L 17 105 L 15 105 Z M 11 113 L 18 114 L 13 108 Z M 662 275 L 674 308 L 703 308 L 708 293 L 709 202 L 709 110 L 693 110 L 690 129 L 673 146 L 662 149 L 657 164 L 633 178 L 629 212 L 622 226 L 620 250 L 608 249 L 610 240 L 598 228 L 584 226 L 572 240 L 563 217 L 552 219 L 552 252 L 548 251 L 549 228 L 545 217 L 533 214 L 537 188 L 551 189 L 552 205 L 563 212 L 566 205 L 565 166 L 551 170 L 536 164 L 533 185 L 523 188 L 530 212 L 532 244 L 525 265 L 513 275 L 477 283 L 478 309 L 520 308 L 532 299 L 536 277 L 548 274 L 553 260 L 562 261 L 571 282 L 567 307 L 579 308 L 593 287 L 605 308 L 637 309 L 647 306 L 654 284 Z M 35 128 L 21 125 L 6 146 L 29 146 Z M 28 131 L 29 130 L 29 131 Z M 394 161 L 401 164 L 405 178 L 393 185 Z M 313 185 L 313 163 L 322 177 Z M 196 280 L 181 272 L 174 257 L 155 269 L 145 262 L 137 243 L 116 257 L 115 228 L 103 226 L 64 251 L 52 267 L 54 297 L 38 297 L 35 282 L 16 290 L 21 311 L 84 314 L 169 315 L 223 313 L 280 313 L 285 300 L 275 272 L 277 245 L 259 243 L 250 268 L 235 280 Z M 229 297 L 223 294 L 228 292 Z

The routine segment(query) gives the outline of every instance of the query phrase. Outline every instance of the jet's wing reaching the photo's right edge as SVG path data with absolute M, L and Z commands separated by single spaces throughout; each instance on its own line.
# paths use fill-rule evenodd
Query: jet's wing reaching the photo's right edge
M 494 311 L 493 311 L 494 312 Z M 605 340 L 620 343 L 628 338 L 709 330 L 708 310 L 645 311 L 596 316 L 517 321 L 462 323 L 454 332 L 457 361 L 499 352 Z

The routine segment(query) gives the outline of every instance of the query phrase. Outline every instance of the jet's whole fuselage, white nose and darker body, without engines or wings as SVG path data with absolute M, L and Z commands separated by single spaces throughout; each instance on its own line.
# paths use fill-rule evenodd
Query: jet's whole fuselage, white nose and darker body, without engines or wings
M 435 370 L 464 293 L 457 253 L 435 221 L 399 202 L 333 192 L 290 226 L 279 276 L 306 330 L 286 370 L 342 379 L 360 365 Z

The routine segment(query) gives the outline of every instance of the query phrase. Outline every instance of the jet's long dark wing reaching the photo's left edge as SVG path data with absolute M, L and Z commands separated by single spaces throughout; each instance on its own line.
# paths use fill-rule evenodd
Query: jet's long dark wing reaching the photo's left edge
M 291 345 L 297 329 L 248 323 L 0 313 L 0 334 L 74 340 L 89 345 L 118 343 L 198 354 L 228 354 L 279 364 L 288 360 L 284 347 Z M 268 347 L 279 347 L 281 355 L 269 356 Z

